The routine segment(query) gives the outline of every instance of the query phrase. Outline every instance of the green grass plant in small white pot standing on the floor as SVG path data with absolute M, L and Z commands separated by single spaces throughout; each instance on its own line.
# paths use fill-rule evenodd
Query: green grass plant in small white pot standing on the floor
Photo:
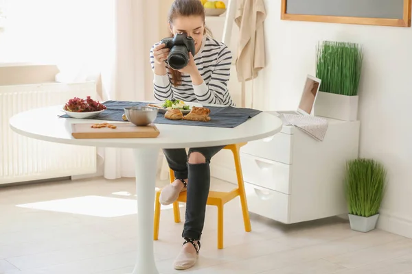
M 369 232 L 375 229 L 386 179 L 385 167 L 376 160 L 356 159 L 347 162 L 345 195 L 353 230 Z

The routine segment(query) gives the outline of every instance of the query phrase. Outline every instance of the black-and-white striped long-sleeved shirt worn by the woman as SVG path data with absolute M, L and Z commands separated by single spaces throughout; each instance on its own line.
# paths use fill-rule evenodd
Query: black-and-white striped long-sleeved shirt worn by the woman
M 155 44 L 150 50 L 150 62 L 152 70 L 155 69 L 153 49 L 159 45 Z M 179 99 L 186 102 L 211 103 L 218 105 L 231 105 L 233 103 L 227 84 L 230 78 L 232 53 L 222 42 L 211 38 L 203 38 L 201 49 L 194 55 L 194 62 L 203 77 L 203 83 L 195 86 L 192 84 L 190 75 L 182 73 L 180 86 L 172 85 L 172 75 L 166 64 L 166 75 L 154 73 L 153 92 L 155 99 L 164 101 L 167 99 Z

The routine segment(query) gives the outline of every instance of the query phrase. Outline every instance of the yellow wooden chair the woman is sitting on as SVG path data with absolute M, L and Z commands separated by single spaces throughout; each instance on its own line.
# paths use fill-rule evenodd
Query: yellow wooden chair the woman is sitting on
M 238 188 L 231 190 L 230 192 L 218 192 L 218 191 L 209 191 L 209 197 L 207 198 L 207 205 L 217 206 L 218 207 L 218 249 L 223 248 L 223 206 L 225 203 L 233 200 L 236 197 L 240 197 L 240 203 L 242 205 L 243 213 L 243 222 L 244 230 L 246 232 L 251 231 L 251 220 L 249 219 L 249 210 L 247 208 L 246 193 L 244 191 L 244 182 L 242 175 L 242 166 L 240 164 L 240 147 L 246 145 L 246 142 L 242 142 L 234 145 L 227 145 L 224 149 L 230 149 L 233 153 L 233 158 L 235 160 L 236 166 L 236 176 L 238 177 Z M 170 169 L 170 183 L 174 182 L 174 173 Z M 190 184 L 190 182 L 189 182 Z M 161 190 L 156 192 L 156 203 L 155 203 L 155 233 L 154 240 L 159 239 L 159 222 L 160 222 L 160 207 L 159 202 Z M 186 202 L 186 191 L 181 192 L 177 201 L 173 203 L 173 212 L 174 212 L 174 222 L 180 223 L 180 210 L 179 202 Z

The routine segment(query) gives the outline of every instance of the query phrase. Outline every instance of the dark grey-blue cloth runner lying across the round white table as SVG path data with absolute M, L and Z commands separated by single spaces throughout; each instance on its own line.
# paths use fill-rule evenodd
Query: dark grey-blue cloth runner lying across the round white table
M 107 110 L 100 113 L 93 119 L 106 120 L 106 121 L 123 121 L 122 115 L 124 114 L 124 108 L 130 106 L 144 106 L 148 103 L 133 102 L 133 101 L 106 101 Z M 164 118 L 163 113 L 157 114 L 155 124 L 168 124 L 168 125 L 194 125 L 202 127 L 228 127 L 233 128 L 246 122 L 249 118 L 256 116 L 261 111 L 253 110 L 250 108 L 233 108 L 233 107 L 214 107 L 205 106 L 210 109 L 211 121 L 198 122 L 198 121 L 186 121 L 186 120 L 169 120 Z M 60 117 L 69 118 L 67 114 Z

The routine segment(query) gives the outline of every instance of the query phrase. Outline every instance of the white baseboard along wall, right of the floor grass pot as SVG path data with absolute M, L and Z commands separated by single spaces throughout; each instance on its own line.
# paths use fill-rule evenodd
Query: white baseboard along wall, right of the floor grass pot
M 377 227 L 387 232 L 412 238 L 412 219 L 380 210 Z

